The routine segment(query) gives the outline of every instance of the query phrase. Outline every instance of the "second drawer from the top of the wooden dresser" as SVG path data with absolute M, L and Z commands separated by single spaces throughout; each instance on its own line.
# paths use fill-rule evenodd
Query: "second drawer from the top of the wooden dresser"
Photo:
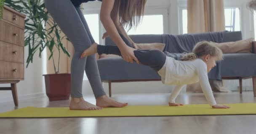
M 24 46 L 24 30 L 0 21 L 0 41 Z

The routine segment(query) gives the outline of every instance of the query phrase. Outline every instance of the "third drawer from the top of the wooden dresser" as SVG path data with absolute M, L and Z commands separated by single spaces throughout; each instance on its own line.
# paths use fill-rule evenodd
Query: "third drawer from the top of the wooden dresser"
M 24 47 L 0 41 L 0 61 L 24 63 Z

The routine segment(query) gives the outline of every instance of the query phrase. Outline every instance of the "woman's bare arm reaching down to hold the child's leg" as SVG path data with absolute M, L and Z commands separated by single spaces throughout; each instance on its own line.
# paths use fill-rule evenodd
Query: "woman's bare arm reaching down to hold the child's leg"
M 109 34 L 110 38 L 115 42 L 115 44 L 120 49 L 122 57 L 125 61 L 133 63 L 135 60 L 139 63 L 138 59 L 134 56 L 133 51 L 135 49 L 128 47 L 123 39 L 121 39 L 120 35 L 118 34 L 117 28 L 111 19 L 111 11 L 114 6 L 115 0 L 102 0 L 101 4 L 101 11 L 100 11 L 100 19 L 101 22 L 106 29 L 107 33 Z

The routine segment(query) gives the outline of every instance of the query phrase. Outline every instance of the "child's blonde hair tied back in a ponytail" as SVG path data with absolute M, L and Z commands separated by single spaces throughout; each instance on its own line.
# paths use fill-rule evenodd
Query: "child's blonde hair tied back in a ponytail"
M 217 57 L 217 60 L 222 60 L 222 51 L 217 47 L 215 44 L 208 42 L 208 41 L 201 41 L 198 42 L 192 51 L 192 53 L 189 53 L 182 57 L 181 61 L 186 60 L 195 60 L 197 58 L 200 58 L 204 55 L 210 54 L 213 57 Z

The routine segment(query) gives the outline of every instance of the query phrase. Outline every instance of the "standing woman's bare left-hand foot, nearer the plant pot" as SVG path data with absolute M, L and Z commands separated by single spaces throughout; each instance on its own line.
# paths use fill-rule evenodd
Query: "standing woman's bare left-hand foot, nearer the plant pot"
M 83 98 L 72 98 L 69 104 L 70 110 L 99 110 L 99 106 L 88 103 Z

